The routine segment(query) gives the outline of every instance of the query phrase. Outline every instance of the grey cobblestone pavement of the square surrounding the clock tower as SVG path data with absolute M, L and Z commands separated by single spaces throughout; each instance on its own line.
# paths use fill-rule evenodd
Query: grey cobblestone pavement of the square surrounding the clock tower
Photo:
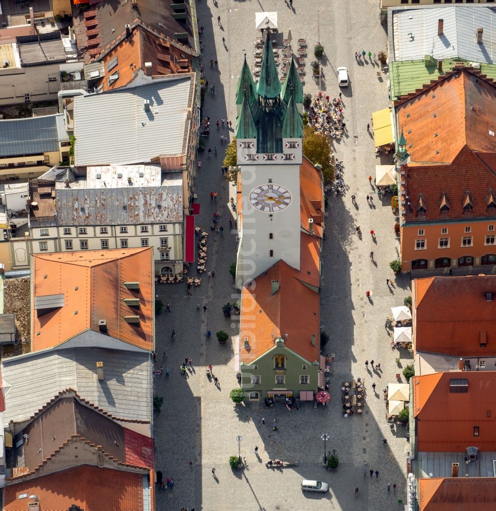
M 311 7 L 309 8 L 309 5 Z M 317 9 L 320 7 L 320 23 Z M 322 329 L 329 334 L 325 350 L 334 353 L 332 367 L 330 406 L 315 410 L 303 403 L 300 410 L 286 411 L 281 406 L 265 409 L 246 406 L 235 407 L 229 391 L 237 386 L 235 371 L 238 354 L 234 349 L 238 324 L 224 318 L 221 307 L 235 300 L 236 290 L 229 275 L 229 265 L 235 260 L 236 233 L 229 233 L 228 220 L 232 212 L 229 197 L 235 188 L 228 184 L 221 173 L 225 146 L 220 134 L 232 137 L 226 128 L 217 130 L 217 119 L 235 121 L 234 91 L 241 69 L 244 50 L 251 63 L 253 40 L 258 35 L 254 29 L 254 13 L 277 10 L 279 32 L 291 29 L 293 40 L 305 38 L 309 47 L 306 58 L 307 73 L 314 59 L 313 47 L 317 42 L 320 25 L 320 42 L 325 49 L 324 72 L 327 82 L 322 84 L 331 97 L 339 90 L 335 80 L 337 66 L 348 67 L 350 86 L 343 89 L 345 122 L 349 136 L 335 144 L 336 155 L 345 163 L 345 197 L 330 197 L 326 220 L 327 239 L 323 247 L 323 280 L 321 295 Z M 373 141 L 366 126 L 371 112 L 385 108 L 388 96 L 385 81 L 378 81 L 371 63 L 359 65 L 356 51 L 365 49 L 378 53 L 386 48 L 386 33 L 379 22 L 377 0 L 319 0 L 311 4 L 294 0 L 293 8 L 282 1 L 211 0 L 197 2 L 199 26 L 204 27 L 201 37 L 205 44 L 203 61 L 209 85 L 216 85 L 215 96 L 206 94 L 202 115 L 210 116 L 210 137 L 206 150 L 200 156 L 202 168 L 196 182 L 201 214 L 197 224 L 208 228 L 214 212 L 221 214 L 223 236 L 212 233 L 208 241 L 209 268 L 215 268 L 215 278 L 204 273 L 203 284 L 194 288 L 193 295 L 186 295 L 185 285 L 166 285 L 156 288 L 164 303 L 171 304 L 171 312 L 157 317 L 156 344 L 157 367 L 170 369 L 170 377 L 155 377 L 155 392 L 164 397 L 164 405 L 155 421 L 157 469 L 164 478 L 174 477 L 173 490 L 157 492 L 157 509 L 397 509 L 398 498 L 405 494 L 406 430 L 391 432 L 385 421 L 382 389 L 394 382 L 401 369 L 396 366 L 397 352 L 389 346 L 384 321 L 390 307 L 403 304 L 410 294 L 409 282 L 398 280 L 391 290 L 386 278 L 392 278 L 389 261 L 395 259 L 398 248 L 393 233 L 394 217 L 388 204 L 375 199 L 374 207 L 367 205 L 365 195 L 372 188 L 368 175 L 374 175 L 376 159 Z M 218 26 L 217 16 L 221 16 Z M 225 45 L 222 42 L 225 37 Z M 210 68 L 210 59 L 218 60 L 218 68 Z M 307 74 L 304 91 L 315 94 L 317 85 Z M 219 154 L 214 155 L 217 146 Z M 218 203 L 211 203 L 210 191 L 218 191 Z M 372 191 L 372 193 L 374 193 Z M 351 204 L 355 194 L 358 209 Z M 363 239 L 355 233 L 361 225 Z M 377 234 L 377 244 L 368 235 L 370 229 Z M 374 250 L 377 266 L 369 259 Z M 190 273 L 196 270 L 190 270 Z M 366 290 L 371 291 L 371 302 Z M 196 304 L 201 305 L 200 311 Z M 206 305 L 207 311 L 202 307 Z M 176 329 L 175 341 L 171 340 Z M 232 343 L 219 345 L 215 332 L 225 330 L 232 336 Z M 207 330 L 211 340 L 205 339 Z M 167 358 L 163 358 L 163 352 Z M 403 354 L 408 357 L 408 354 Z M 193 369 L 181 376 L 179 366 L 185 357 L 193 358 Z M 380 362 L 383 373 L 367 373 L 365 360 Z M 407 363 L 406 359 L 401 360 Z M 220 386 L 206 377 L 206 366 L 214 366 Z M 367 405 L 362 417 L 344 419 L 341 414 L 340 385 L 351 376 L 365 378 Z M 377 394 L 372 391 L 372 381 L 377 384 Z M 403 377 L 402 377 L 403 379 Z M 265 416 L 266 424 L 262 424 Z M 272 432 L 274 417 L 279 431 Z M 326 472 L 321 466 L 324 446 L 320 439 L 327 432 L 330 439 L 327 450 L 336 449 L 340 464 L 336 472 Z M 235 436 L 241 434 L 241 455 L 246 457 L 248 469 L 233 474 L 228 457 L 238 454 Z M 387 438 L 384 445 L 382 440 Z M 260 458 L 254 447 L 258 446 Z M 284 472 L 269 470 L 265 461 L 270 457 L 299 460 L 296 468 Z M 190 461 L 192 466 L 190 467 Z M 211 469 L 216 468 L 216 478 Z M 379 478 L 368 476 L 370 468 L 379 469 Z M 367 471 L 365 473 L 365 471 Z M 318 479 L 329 483 L 330 492 L 302 494 L 302 479 Z M 387 483 L 396 483 L 397 495 L 387 493 Z M 355 487 L 360 488 L 355 497 Z

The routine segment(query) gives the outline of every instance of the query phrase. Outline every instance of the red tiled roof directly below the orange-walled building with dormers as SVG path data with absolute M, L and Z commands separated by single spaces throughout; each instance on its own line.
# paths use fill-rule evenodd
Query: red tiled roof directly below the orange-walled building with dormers
M 496 275 L 416 279 L 412 296 L 417 352 L 496 356 Z

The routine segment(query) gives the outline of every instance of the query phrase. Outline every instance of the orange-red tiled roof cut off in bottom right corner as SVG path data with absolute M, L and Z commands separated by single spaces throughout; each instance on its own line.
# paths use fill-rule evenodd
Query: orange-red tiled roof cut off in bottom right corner
M 421 478 L 418 486 L 420 511 L 496 509 L 496 479 L 493 477 Z

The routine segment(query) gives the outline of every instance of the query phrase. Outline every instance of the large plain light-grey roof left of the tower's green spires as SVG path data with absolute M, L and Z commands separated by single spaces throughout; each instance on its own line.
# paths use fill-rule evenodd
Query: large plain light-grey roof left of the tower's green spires
M 76 97 L 75 164 L 124 165 L 184 154 L 192 93 L 188 76 Z

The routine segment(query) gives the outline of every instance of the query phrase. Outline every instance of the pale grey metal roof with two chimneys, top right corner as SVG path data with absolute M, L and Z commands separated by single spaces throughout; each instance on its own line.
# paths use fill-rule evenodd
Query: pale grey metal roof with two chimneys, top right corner
M 443 33 L 438 36 L 438 20 Z M 496 56 L 493 7 L 443 6 L 395 11 L 393 14 L 394 60 L 456 58 L 492 64 Z M 482 28 L 482 43 L 477 29 Z

